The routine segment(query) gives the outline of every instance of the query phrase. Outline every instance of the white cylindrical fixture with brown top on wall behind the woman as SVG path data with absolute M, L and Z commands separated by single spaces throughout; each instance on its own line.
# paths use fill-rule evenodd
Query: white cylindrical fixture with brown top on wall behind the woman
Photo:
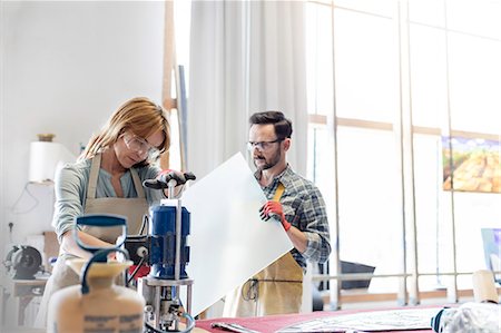
M 63 163 L 75 161 L 75 156 L 61 144 L 52 143 L 53 134 L 39 134 L 30 144 L 30 183 L 52 183 L 56 170 Z

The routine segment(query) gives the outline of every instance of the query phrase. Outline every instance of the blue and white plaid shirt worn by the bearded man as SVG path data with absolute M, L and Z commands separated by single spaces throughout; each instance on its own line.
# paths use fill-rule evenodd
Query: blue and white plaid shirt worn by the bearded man
M 255 177 L 259 179 L 261 173 L 256 172 Z M 306 268 L 307 259 L 325 263 L 331 254 L 331 241 L 327 213 L 321 192 L 312 182 L 294 173 L 287 165 L 269 186 L 263 187 L 263 192 L 269 200 L 273 199 L 278 183 L 285 187 L 281 197 L 285 218 L 302 231 L 307 238 L 304 253 L 293 248 L 291 254 L 303 270 Z

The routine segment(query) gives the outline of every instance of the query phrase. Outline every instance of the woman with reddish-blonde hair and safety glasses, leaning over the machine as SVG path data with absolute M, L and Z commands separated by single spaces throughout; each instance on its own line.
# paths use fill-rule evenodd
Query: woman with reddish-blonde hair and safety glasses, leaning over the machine
M 159 204 L 164 192 L 144 188 L 145 179 L 157 178 L 161 170 L 153 163 L 170 145 L 169 123 L 164 109 L 138 97 L 126 101 L 92 138 L 75 164 L 56 176 L 56 205 L 52 226 L 60 243 L 59 257 L 50 276 L 36 326 L 45 327 L 50 296 L 58 290 L 79 283 L 66 265 L 72 257 L 89 258 L 73 237 L 75 218 L 84 214 L 116 214 L 127 217 L 128 234 L 138 234 L 148 207 Z M 115 228 L 78 229 L 89 246 L 109 247 L 116 242 Z

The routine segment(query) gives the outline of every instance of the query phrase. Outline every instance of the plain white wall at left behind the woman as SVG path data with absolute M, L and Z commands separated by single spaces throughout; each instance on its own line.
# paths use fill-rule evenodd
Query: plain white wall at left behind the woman
M 164 3 L 1 2 L 1 235 L 14 243 L 51 229 L 53 188 L 29 185 L 30 141 L 39 133 L 79 153 L 125 100 L 160 102 Z M 0 246 L 2 247 L 2 246 Z M 2 255 L 3 258 L 3 255 Z

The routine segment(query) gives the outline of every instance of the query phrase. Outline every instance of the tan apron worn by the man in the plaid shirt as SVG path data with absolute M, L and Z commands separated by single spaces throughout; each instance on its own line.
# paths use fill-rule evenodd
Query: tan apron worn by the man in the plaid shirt
M 279 202 L 284 185 L 273 197 Z M 226 295 L 223 316 L 263 316 L 298 313 L 303 298 L 303 270 L 291 253 L 254 275 Z

